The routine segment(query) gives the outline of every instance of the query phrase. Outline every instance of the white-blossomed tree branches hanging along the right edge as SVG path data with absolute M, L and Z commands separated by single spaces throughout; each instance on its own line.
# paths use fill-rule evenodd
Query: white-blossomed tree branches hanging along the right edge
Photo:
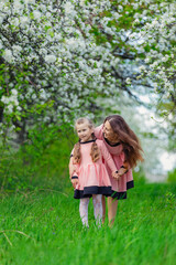
M 135 17 L 134 24 L 140 31 L 131 38 L 135 41 L 135 46 L 143 50 L 140 77 L 152 81 L 155 93 L 153 103 L 156 105 L 156 113 L 164 118 L 163 120 L 167 120 L 166 132 L 172 136 L 172 149 L 174 149 L 176 148 L 173 145 L 176 140 L 176 4 L 172 0 L 147 2 L 148 10 L 143 9 Z

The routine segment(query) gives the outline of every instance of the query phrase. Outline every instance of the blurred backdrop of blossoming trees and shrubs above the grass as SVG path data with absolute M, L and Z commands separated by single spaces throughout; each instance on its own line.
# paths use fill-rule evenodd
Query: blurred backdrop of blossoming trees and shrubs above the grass
M 176 181 L 174 1 L 3 1 L 0 186 L 62 189 L 78 140 L 120 114 L 139 136 L 143 182 Z

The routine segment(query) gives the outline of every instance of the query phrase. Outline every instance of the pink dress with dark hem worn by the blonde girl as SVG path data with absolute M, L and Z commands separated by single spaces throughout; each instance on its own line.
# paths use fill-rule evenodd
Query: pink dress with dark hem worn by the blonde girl
M 100 158 L 96 162 L 92 162 L 90 156 L 91 145 L 94 141 L 97 142 L 100 150 Z M 91 197 L 92 194 L 103 194 L 107 197 L 111 195 L 112 190 L 109 174 L 117 171 L 117 167 L 103 141 L 96 139 L 80 142 L 80 163 L 77 165 L 77 172 L 74 172 L 73 174 L 74 178 L 78 177 L 79 181 L 79 183 L 76 186 L 74 198 L 82 199 Z M 109 173 L 105 163 L 102 162 L 102 158 L 106 160 L 109 167 Z

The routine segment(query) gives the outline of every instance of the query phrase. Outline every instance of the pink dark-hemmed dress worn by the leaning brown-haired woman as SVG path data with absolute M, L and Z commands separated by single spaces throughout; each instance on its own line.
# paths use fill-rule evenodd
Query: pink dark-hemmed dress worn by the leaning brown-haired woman
M 95 136 L 98 139 L 101 139 L 108 151 L 111 153 L 112 159 L 117 166 L 117 169 L 119 170 L 120 167 L 124 162 L 124 152 L 123 152 L 123 147 L 120 142 L 117 145 L 110 145 L 108 140 L 103 137 L 102 132 L 103 125 L 100 125 L 95 129 Z M 127 199 L 127 190 L 131 189 L 134 187 L 133 182 L 133 176 L 132 176 L 132 170 L 129 169 L 127 173 L 124 173 L 118 181 L 111 177 L 109 166 L 107 165 L 107 161 L 105 160 L 105 165 L 107 167 L 107 170 L 109 172 L 109 178 L 111 180 L 111 187 L 112 187 L 112 198 L 116 199 Z

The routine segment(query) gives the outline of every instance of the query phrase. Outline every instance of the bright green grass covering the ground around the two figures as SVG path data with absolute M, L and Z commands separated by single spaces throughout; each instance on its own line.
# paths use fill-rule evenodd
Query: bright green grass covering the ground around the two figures
M 136 183 L 119 202 L 114 226 L 99 230 L 92 202 L 85 230 L 79 201 L 72 188 L 65 192 L 0 194 L 0 265 L 175 264 L 176 186 Z

